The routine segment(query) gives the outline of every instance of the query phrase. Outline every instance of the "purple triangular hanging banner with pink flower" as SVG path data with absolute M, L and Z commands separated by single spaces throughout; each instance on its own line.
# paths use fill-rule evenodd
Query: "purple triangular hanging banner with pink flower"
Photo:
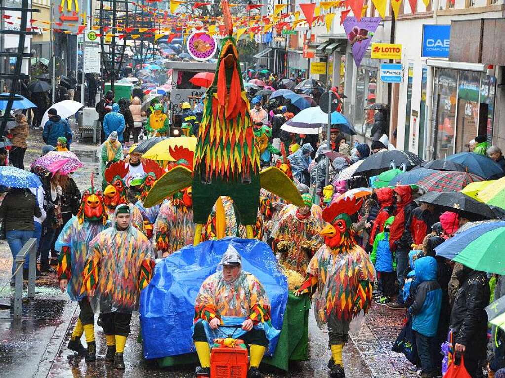
M 343 26 L 347 40 L 352 46 L 352 56 L 357 67 L 360 67 L 361 60 L 367 52 L 380 21 L 379 17 L 362 17 L 360 21 L 357 21 L 356 17 L 345 18 Z

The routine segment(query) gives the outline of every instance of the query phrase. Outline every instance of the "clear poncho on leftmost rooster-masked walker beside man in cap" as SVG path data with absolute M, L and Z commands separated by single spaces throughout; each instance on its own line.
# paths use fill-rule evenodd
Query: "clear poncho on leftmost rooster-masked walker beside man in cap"
M 71 300 L 80 300 L 87 295 L 83 291 L 82 272 L 88 253 L 89 242 L 99 233 L 109 227 L 101 221 L 90 222 L 84 218 L 83 223 L 73 216 L 63 227 L 60 236 L 56 240 L 55 249 L 60 254 L 59 271 L 68 272 L 67 293 Z M 68 247 L 68 251 L 64 248 Z

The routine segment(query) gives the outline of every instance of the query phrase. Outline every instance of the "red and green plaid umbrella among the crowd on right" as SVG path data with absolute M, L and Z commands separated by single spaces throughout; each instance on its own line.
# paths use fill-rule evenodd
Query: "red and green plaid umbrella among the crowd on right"
M 417 183 L 425 192 L 459 192 L 470 182 L 483 181 L 482 177 L 460 171 L 432 173 Z

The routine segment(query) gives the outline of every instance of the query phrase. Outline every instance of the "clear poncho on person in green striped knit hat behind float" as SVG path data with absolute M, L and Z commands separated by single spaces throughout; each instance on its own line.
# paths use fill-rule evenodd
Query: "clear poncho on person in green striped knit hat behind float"
M 287 244 L 287 250 L 280 254 L 279 262 L 286 268 L 306 275 L 307 264 L 311 255 L 302 245 L 302 242 L 309 241 L 319 248 L 323 242 L 319 232 L 323 229 L 325 221 L 323 212 L 318 205 L 313 205 L 311 215 L 308 218 L 300 218 L 297 215 L 298 208 L 295 205 L 286 205 L 279 213 L 278 222 L 272 229 L 272 237 L 277 245 L 280 242 Z

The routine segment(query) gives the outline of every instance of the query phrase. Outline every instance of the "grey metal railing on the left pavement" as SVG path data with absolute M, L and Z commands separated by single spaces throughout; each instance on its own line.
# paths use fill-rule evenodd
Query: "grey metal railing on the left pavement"
M 23 245 L 14 262 L 16 270 L 14 271 L 15 290 L 14 290 L 14 320 L 21 319 L 23 310 L 23 266 L 26 257 L 28 261 L 28 298 L 35 298 L 35 265 L 37 260 L 37 239 L 31 237 Z

